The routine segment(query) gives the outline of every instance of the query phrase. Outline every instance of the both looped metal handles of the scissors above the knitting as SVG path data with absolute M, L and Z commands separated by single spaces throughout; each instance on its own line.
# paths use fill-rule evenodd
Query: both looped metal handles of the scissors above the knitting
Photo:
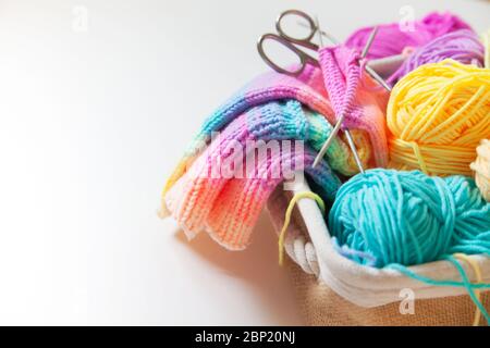
M 307 26 L 309 27 L 309 34 L 307 34 L 305 37 L 290 36 L 283 29 L 284 18 L 287 16 L 289 17 L 294 16 L 299 21 L 306 20 Z M 278 32 L 278 34 L 264 34 L 262 36 L 260 36 L 259 40 L 257 41 L 257 50 L 258 50 L 260 57 L 262 58 L 262 60 L 270 67 L 272 67 L 278 73 L 286 74 L 290 76 L 297 76 L 303 72 L 303 70 L 305 69 L 305 66 L 307 64 L 320 66 L 318 61 L 315 58 L 313 58 L 311 55 L 309 55 L 308 53 L 304 52 L 303 50 L 301 50 L 299 48 L 296 47 L 296 46 L 299 46 L 299 47 L 309 49 L 311 51 L 318 51 L 318 48 L 319 48 L 318 45 L 313 42 L 315 34 L 317 34 L 317 32 L 319 30 L 318 23 L 316 23 L 308 14 L 306 14 L 305 12 L 299 11 L 299 10 L 284 11 L 275 20 L 275 30 Z M 266 50 L 264 49 L 264 42 L 266 42 L 267 40 L 278 41 L 279 44 L 282 44 L 285 48 L 291 50 L 293 53 L 295 53 L 297 55 L 297 58 L 299 59 L 299 66 L 294 71 L 290 71 L 290 70 L 286 70 L 286 69 L 280 66 L 279 64 L 275 64 L 267 55 Z

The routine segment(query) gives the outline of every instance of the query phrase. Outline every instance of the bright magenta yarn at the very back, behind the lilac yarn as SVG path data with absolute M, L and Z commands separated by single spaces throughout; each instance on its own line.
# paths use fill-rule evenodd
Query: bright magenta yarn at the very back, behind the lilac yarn
M 411 27 L 402 30 L 399 23 L 379 25 L 378 27 L 379 32 L 369 49 L 368 59 L 400 54 L 406 47 L 418 48 L 441 35 L 458 29 L 471 30 L 467 23 L 449 12 L 429 13 L 422 20 L 413 23 L 413 30 L 411 30 Z M 347 38 L 345 45 L 359 51 L 363 50 L 372 28 L 371 26 L 356 30 Z

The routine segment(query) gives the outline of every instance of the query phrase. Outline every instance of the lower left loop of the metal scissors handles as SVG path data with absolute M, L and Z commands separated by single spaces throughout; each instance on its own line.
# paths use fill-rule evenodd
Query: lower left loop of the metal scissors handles
M 283 45 L 285 48 L 287 48 L 290 51 L 295 53 L 299 58 L 299 66 L 294 70 L 286 70 L 278 64 L 275 64 L 266 53 L 266 50 L 264 49 L 264 42 L 266 40 L 273 40 L 281 45 Z M 274 71 L 281 74 L 290 75 L 290 76 L 298 76 L 304 69 L 306 67 L 306 64 L 311 64 L 315 66 L 319 66 L 318 61 L 310 57 L 309 54 L 303 52 L 302 50 L 297 49 L 287 38 L 284 38 L 282 36 L 275 35 L 275 34 L 264 34 L 260 36 L 259 40 L 257 41 L 257 50 L 262 58 L 262 60 Z

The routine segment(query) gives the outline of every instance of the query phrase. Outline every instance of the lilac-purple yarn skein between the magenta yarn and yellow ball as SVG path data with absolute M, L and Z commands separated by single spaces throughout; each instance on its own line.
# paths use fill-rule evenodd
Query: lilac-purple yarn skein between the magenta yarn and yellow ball
M 400 78 L 420 65 L 438 63 L 448 58 L 463 64 L 483 66 L 485 47 L 478 36 L 471 30 L 462 29 L 448 33 L 412 53 L 402 66 L 390 76 L 389 83 L 396 83 Z

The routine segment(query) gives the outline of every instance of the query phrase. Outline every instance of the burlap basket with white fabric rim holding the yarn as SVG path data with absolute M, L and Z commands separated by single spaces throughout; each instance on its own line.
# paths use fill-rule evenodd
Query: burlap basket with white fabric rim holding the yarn
M 268 201 L 268 212 L 275 231 L 282 227 L 284 211 L 292 194 L 309 190 L 306 183 L 293 192 L 279 187 Z M 292 261 L 292 275 L 297 300 L 308 325 L 471 325 L 476 306 L 466 289 L 431 286 L 393 270 L 359 265 L 340 256 L 330 244 L 330 235 L 315 201 L 302 199 L 293 213 L 284 243 Z M 490 282 L 490 261 L 471 257 L 478 264 L 482 282 Z M 462 263 L 470 282 L 476 275 L 469 264 Z M 417 274 L 434 279 L 461 281 L 455 268 L 446 261 L 409 268 Z M 413 294 L 411 311 L 401 307 Z M 490 293 L 481 301 L 490 307 Z M 405 307 L 404 307 L 405 308 Z M 481 319 L 480 324 L 485 324 Z

